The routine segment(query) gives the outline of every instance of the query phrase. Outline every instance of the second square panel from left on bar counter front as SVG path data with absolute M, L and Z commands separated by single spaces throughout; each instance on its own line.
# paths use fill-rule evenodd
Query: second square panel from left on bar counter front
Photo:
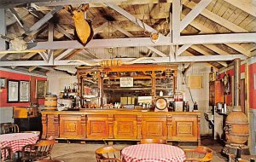
M 87 118 L 87 138 L 108 138 L 108 115 L 88 115 Z

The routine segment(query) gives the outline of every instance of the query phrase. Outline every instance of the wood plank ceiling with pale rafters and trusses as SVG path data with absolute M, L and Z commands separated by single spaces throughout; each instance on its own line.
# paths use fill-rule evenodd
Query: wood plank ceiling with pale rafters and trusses
M 230 0 L 88 1 L 86 19 L 91 20 L 95 34 L 83 47 L 74 37 L 71 14 L 65 9 L 56 10 L 60 5 L 78 7 L 82 1 L 3 0 L 0 6 L 5 8 L 2 17 L 7 31 L 0 34 L 15 38 L 35 27 L 36 22 L 43 22 L 28 34 L 29 48 L 36 51 L 10 53 L 6 50 L 11 47 L 2 48 L 0 67 L 29 65 L 32 71 L 58 65 L 99 65 L 102 59 L 111 58 L 97 54 L 99 48 L 108 50 L 108 54 L 109 49 L 132 48 L 133 54 L 119 52 L 115 56 L 123 61 L 134 61 L 136 57 L 136 63 L 207 61 L 214 67 L 225 67 L 236 57 L 244 60 L 256 55 L 256 4 L 244 1 L 242 5 Z M 47 15 L 54 11 L 48 20 Z M 150 41 L 153 32 L 161 35 L 157 43 Z

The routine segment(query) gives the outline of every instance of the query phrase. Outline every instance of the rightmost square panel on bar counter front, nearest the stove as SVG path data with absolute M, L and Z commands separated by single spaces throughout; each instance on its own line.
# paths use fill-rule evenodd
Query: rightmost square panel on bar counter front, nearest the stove
M 172 117 L 172 140 L 197 141 L 197 116 L 174 115 Z

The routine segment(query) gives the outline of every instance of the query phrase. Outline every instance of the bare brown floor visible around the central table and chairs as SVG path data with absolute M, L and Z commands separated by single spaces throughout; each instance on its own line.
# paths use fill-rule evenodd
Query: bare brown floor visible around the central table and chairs
M 125 148 L 136 142 L 114 142 L 115 148 Z M 186 144 L 186 143 L 184 143 Z M 212 148 L 214 152 L 213 162 L 223 162 L 225 158 L 220 151 L 223 148 L 218 142 L 210 137 L 202 137 L 202 145 Z M 65 162 L 96 162 L 95 150 L 104 146 L 103 142 L 81 143 L 55 143 L 52 158 L 61 159 Z M 181 148 L 196 148 L 196 146 L 180 146 Z

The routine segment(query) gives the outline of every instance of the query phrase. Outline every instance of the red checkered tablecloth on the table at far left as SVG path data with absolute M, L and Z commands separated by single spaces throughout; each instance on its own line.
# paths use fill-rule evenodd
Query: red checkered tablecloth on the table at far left
M 38 135 L 33 133 L 12 133 L 0 135 L 0 148 L 12 148 L 12 152 L 21 151 L 27 144 L 36 143 Z

